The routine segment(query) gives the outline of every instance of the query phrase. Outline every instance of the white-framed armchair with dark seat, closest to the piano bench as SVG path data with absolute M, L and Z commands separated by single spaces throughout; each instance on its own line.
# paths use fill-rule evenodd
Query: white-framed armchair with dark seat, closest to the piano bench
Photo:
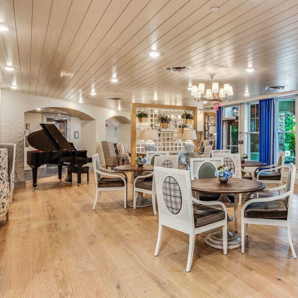
M 127 176 L 124 172 L 108 170 L 100 166 L 99 155 L 95 153 L 92 155 L 92 163 L 95 177 L 95 200 L 92 207 L 99 202 L 102 191 L 105 190 L 124 190 L 124 208 L 126 208 L 127 201 Z M 122 176 L 123 175 L 123 176 Z

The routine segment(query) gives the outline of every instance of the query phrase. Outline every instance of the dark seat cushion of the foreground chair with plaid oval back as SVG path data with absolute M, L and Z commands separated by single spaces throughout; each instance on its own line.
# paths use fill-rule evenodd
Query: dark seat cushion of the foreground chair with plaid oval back
M 224 219 L 225 213 L 223 210 L 193 204 L 193 217 L 195 220 L 195 227 L 199 227 Z

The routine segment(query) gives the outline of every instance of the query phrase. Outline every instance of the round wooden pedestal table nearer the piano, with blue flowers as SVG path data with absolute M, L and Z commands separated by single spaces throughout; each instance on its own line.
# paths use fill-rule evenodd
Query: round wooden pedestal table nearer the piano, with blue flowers
M 136 172 L 138 176 L 142 175 L 142 172 L 153 171 L 153 164 L 144 164 L 142 167 L 139 167 L 137 164 L 124 164 L 121 166 L 114 167 L 113 170 L 123 171 L 123 172 Z M 135 177 L 135 175 L 134 175 Z M 134 182 L 134 181 L 133 181 Z M 134 191 L 134 190 L 133 190 Z M 137 192 L 138 196 L 136 198 L 136 208 L 148 207 L 152 205 L 152 201 L 144 198 L 143 193 Z M 133 193 L 134 195 L 134 193 Z M 134 207 L 134 201 L 127 202 L 129 207 Z

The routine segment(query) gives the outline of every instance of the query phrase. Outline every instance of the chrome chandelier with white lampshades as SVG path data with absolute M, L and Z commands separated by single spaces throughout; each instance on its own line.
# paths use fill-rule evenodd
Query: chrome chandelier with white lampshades
M 191 87 L 190 94 L 195 97 L 195 100 L 207 100 L 207 101 L 228 101 L 230 96 L 233 95 L 233 88 L 230 84 L 224 84 L 224 88 L 218 89 L 218 83 L 213 82 L 215 73 L 209 74 L 211 77 L 212 89 L 206 89 L 205 94 L 205 84 L 199 83 L 198 86 L 193 85 Z

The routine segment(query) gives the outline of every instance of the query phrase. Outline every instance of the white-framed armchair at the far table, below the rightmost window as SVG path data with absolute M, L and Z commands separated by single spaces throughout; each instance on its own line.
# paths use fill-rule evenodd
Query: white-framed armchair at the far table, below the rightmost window
M 276 186 L 283 185 L 283 169 L 285 166 L 285 152 L 278 152 L 276 164 L 258 167 L 254 171 L 254 179 L 263 183 L 275 183 Z

